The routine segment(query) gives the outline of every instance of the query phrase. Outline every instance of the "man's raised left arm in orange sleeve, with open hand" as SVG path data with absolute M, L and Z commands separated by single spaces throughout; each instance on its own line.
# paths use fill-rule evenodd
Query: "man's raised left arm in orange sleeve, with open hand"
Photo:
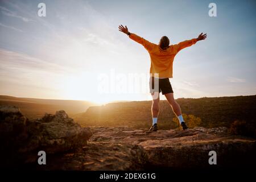
M 147 49 L 147 51 L 150 51 L 155 44 L 152 44 L 151 42 L 148 42 L 146 39 L 141 38 L 140 36 L 130 33 L 128 31 L 128 28 L 125 26 L 123 27 L 122 24 L 118 27 L 119 31 L 123 32 L 126 35 L 129 35 L 129 38 L 133 39 L 135 42 L 138 42 L 139 44 L 142 44 L 144 48 Z

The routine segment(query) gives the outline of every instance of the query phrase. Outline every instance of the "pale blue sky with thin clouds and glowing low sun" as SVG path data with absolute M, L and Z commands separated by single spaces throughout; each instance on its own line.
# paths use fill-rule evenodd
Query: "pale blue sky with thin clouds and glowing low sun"
M 41 2 L 46 16 L 38 15 Z M 211 2 L 217 16 L 208 14 Z M 152 43 L 207 33 L 175 57 L 175 98 L 256 94 L 255 9 L 255 1 L 0 0 L 0 94 L 150 100 L 150 57 L 119 24 Z

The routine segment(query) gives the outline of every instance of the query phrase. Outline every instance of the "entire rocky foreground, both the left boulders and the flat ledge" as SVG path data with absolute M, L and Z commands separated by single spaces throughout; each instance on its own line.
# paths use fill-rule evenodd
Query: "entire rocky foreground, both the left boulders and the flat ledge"
M 1 168 L 13 167 L 9 159 L 14 154 L 22 156 L 17 168 L 43 170 L 205 169 L 212 167 L 209 151 L 216 151 L 219 168 L 255 167 L 256 162 L 256 140 L 230 135 L 226 127 L 145 133 L 127 127 L 82 128 L 64 111 L 36 121 L 27 121 L 15 107 L 1 107 L 0 115 L 1 152 L 8 159 Z M 23 129 L 14 133 L 15 125 Z M 46 151 L 47 165 L 38 165 L 38 150 Z

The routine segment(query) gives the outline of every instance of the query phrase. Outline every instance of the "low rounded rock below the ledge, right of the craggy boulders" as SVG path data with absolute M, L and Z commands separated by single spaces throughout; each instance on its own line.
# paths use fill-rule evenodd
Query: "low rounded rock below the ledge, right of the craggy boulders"
M 116 171 L 143 170 L 148 161 L 142 146 L 90 142 L 63 155 L 52 156 L 46 166 L 35 166 L 44 170 Z

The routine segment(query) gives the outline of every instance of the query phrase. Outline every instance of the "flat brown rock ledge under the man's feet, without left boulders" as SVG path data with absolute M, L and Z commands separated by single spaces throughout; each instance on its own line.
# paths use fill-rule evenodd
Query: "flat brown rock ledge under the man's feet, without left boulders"
M 58 158 L 61 169 L 136 170 L 210 168 L 209 151 L 217 166 L 255 166 L 256 140 L 228 134 L 225 127 L 145 133 L 129 128 L 96 127 L 88 145 Z M 76 167 L 74 167 L 76 166 Z M 56 163 L 51 168 L 57 169 Z

